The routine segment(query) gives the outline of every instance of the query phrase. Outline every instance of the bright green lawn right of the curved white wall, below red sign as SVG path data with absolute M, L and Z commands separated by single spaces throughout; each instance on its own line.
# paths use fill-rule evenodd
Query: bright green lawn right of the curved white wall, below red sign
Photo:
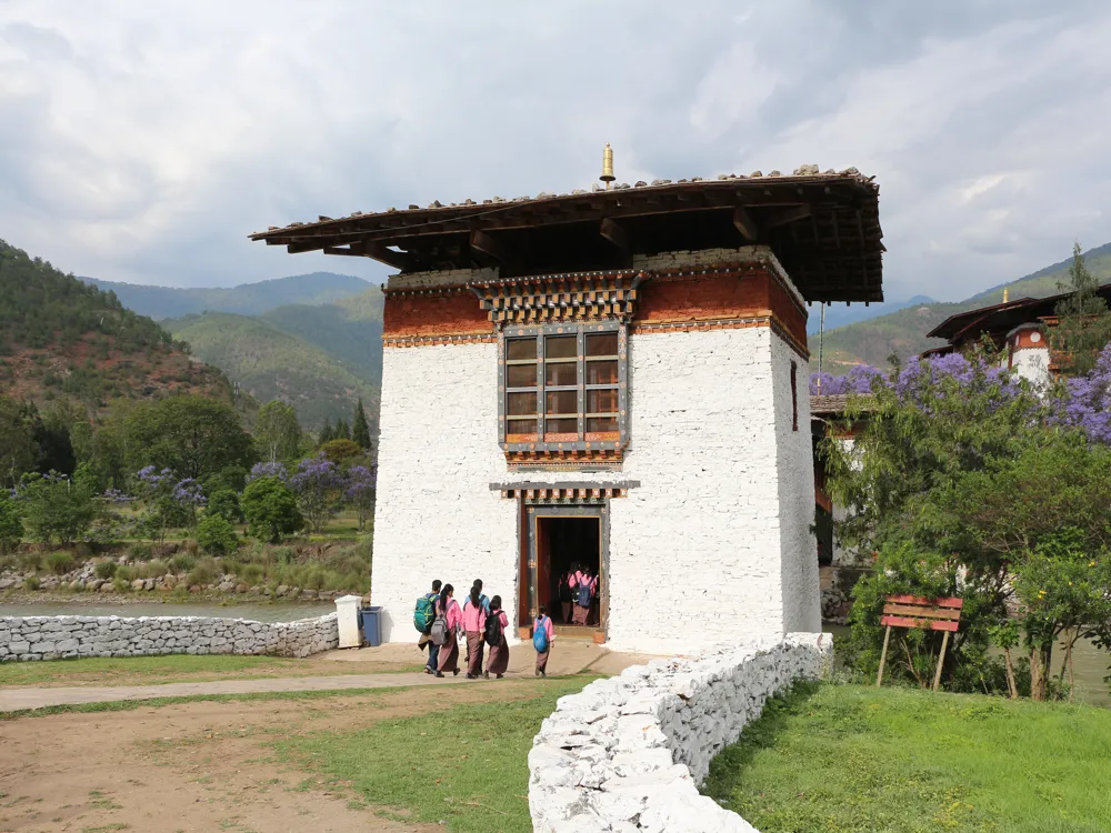
M 763 833 L 1111 830 L 1111 711 L 904 689 L 769 703 L 703 792 Z

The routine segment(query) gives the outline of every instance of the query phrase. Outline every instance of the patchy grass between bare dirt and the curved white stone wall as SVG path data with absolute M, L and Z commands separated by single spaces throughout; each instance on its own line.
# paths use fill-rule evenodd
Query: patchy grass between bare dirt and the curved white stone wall
M 380 721 L 358 732 L 320 732 L 274 743 L 279 757 L 351 784 L 371 805 L 402 807 L 412 823 L 447 821 L 450 831 L 531 831 L 532 739 L 564 694 L 593 678 L 514 683 L 537 695 L 458 705 Z

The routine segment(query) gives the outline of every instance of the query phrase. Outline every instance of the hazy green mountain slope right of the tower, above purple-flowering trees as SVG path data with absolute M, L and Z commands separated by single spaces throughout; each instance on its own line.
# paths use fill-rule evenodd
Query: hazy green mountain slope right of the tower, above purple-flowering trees
M 1084 258 L 1092 274 L 1100 278 L 1101 281 L 1111 278 L 1111 243 L 1084 252 Z M 827 330 L 824 339 L 822 339 L 822 370 L 842 373 L 853 364 L 861 363 L 885 368 L 888 357 L 892 353 L 900 359 L 907 359 L 911 355 L 918 355 L 923 350 L 944 344 L 945 342 L 941 339 L 928 339 L 925 333 L 958 312 L 1001 303 L 1004 288 L 1009 289 L 1012 301 L 1020 298 L 1054 295 L 1061 291 L 1060 284 L 1068 281 L 1071 263 L 1072 258 L 1062 260 L 1018 281 L 992 287 L 964 301 L 914 303 L 868 321 L 832 330 L 829 328 L 830 311 L 827 310 Z M 810 314 L 810 324 L 812 325 L 813 311 Z M 818 369 L 818 342 L 817 335 L 811 332 L 811 370 Z

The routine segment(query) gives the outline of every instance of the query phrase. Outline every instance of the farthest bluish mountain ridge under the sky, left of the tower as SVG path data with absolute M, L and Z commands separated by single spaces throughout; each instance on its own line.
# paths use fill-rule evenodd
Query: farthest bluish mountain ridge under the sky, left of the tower
M 230 289 L 146 287 L 136 283 L 116 283 L 96 278 L 82 278 L 104 290 L 112 291 L 124 307 L 156 320 L 179 318 L 206 310 L 258 315 L 267 310 L 288 304 L 322 304 L 366 292 L 369 284 L 361 278 L 334 272 L 312 272 L 276 278 L 259 283 L 243 283 Z

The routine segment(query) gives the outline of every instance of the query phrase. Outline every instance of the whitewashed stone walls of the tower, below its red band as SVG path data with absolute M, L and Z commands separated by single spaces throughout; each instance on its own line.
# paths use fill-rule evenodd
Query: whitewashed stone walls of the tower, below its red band
M 388 349 L 372 576 L 383 638 L 418 639 L 412 609 L 433 579 L 461 599 L 481 578 L 516 618 L 517 503 L 490 484 L 529 481 L 639 481 L 610 502 L 613 646 L 672 653 L 722 632 L 817 629 L 805 364 L 795 358 L 794 432 L 790 355 L 770 328 L 634 335 L 622 470 L 510 472 L 496 345 Z

